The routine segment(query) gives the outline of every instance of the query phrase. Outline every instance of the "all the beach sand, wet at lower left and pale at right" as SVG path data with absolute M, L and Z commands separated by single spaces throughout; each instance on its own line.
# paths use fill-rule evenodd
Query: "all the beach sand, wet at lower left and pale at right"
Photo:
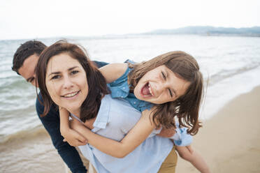
M 233 99 L 194 137 L 212 172 L 260 172 L 260 87 Z M 0 172 L 64 172 L 44 130 L 0 144 Z M 198 172 L 178 158 L 176 172 Z

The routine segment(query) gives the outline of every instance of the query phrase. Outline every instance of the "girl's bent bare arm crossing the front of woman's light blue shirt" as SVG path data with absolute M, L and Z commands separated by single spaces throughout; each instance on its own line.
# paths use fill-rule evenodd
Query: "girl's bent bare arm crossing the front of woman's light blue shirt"
M 103 153 L 116 158 L 124 158 L 124 156 L 136 149 L 154 130 L 155 126 L 150 117 L 150 110 L 143 111 L 140 120 L 120 142 L 92 133 L 83 125 L 77 126 L 72 123 L 71 128 L 81 133 L 87 138 L 89 144 L 92 144 Z

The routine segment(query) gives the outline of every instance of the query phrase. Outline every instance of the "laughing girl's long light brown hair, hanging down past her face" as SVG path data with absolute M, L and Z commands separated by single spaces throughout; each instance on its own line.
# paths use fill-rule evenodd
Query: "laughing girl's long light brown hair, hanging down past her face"
M 186 93 L 177 100 L 154 105 L 152 120 L 157 126 L 171 128 L 175 127 L 174 117 L 177 116 L 180 126 L 189 128 L 187 132 L 196 135 L 198 128 L 201 127 L 198 112 L 203 95 L 203 76 L 194 57 L 185 52 L 174 51 L 161 54 L 143 63 L 129 64 L 130 68 L 133 68 L 129 73 L 131 90 L 133 91 L 145 73 L 162 65 L 171 69 L 178 77 L 190 82 L 190 85 Z

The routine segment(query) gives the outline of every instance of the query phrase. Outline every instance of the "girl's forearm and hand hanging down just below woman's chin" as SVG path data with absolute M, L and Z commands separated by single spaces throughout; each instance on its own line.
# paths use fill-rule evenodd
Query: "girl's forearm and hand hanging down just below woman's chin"
M 71 146 L 80 146 L 87 144 L 85 137 L 69 127 L 69 112 L 63 107 L 59 107 L 60 131 L 64 137 L 64 142 Z

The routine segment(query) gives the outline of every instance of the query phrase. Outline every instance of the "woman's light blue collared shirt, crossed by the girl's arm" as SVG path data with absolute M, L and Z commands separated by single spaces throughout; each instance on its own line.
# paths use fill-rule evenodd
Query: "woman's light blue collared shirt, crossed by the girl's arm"
M 106 95 L 101 100 L 99 113 L 92 132 L 112 140 L 120 141 L 140 119 L 140 112 L 124 99 L 113 99 Z M 82 154 L 92 163 L 97 172 L 155 173 L 171 152 L 173 142 L 154 134 L 124 158 L 115 158 L 87 144 L 79 146 Z

